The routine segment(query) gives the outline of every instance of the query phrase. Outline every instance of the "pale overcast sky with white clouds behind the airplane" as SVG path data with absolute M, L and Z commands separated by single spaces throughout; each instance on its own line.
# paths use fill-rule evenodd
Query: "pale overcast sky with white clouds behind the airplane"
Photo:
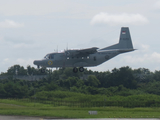
M 0 72 L 67 48 L 103 48 L 129 27 L 135 49 L 88 69 L 160 69 L 160 0 L 0 0 Z M 36 66 L 35 66 L 36 67 Z

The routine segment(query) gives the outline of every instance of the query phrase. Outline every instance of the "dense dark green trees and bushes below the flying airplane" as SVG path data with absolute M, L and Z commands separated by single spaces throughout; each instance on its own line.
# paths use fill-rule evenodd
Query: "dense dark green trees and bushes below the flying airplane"
M 13 78 L 14 75 L 46 75 L 47 77 L 38 81 L 26 81 Z M 106 97 L 160 95 L 160 71 L 151 72 L 146 68 L 132 69 L 125 66 L 104 72 L 85 69 L 83 73 L 73 73 L 72 68 L 65 68 L 41 73 L 31 66 L 25 69 L 23 66 L 14 65 L 0 76 L 8 76 L 7 79 L 0 80 L 0 98 L 36 97 L 59 100 L 67 99 L 67 92 L 83 94 L 85 97 L 86 95 Z M 63 94 L 50 95 L 57 91 Z

